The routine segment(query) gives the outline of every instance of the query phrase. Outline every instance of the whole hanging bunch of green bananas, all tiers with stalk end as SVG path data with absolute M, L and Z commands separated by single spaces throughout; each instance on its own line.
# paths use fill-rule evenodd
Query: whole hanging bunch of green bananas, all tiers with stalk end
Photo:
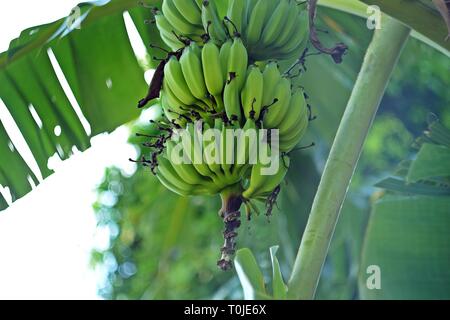
M 151 160 L 139 162 L 180 195 L 221 195 L 218 265 L 229 269 L 241 205 L 248 217 L 255 201 L 271 212 L 308 128 L 305 94 L 276 62 L 301 60 L 308 16 L 295 0 L 164 0 L 154 13 L 175 52 L 150 86 L 165 120 Z

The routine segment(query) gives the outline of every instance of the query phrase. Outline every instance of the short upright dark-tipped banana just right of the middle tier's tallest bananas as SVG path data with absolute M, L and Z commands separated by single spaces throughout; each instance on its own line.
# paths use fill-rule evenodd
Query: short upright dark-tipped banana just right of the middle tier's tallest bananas
M 241 92 L 244 116 L 258 119 L 261 112 L 264 90 L 264 77 L 258 67 L 251 66 L 247 72 L 247 79 Z

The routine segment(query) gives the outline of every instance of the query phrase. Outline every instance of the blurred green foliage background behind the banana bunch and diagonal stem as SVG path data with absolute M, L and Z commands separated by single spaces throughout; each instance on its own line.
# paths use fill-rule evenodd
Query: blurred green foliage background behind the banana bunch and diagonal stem
M 291 154 L 291 171 L 270 223 L 264 216 L 244 221 L 239 247 L 255 254 L 270 285 L 269 247 L 280 245 L 278 258 L 287 280 L 300 243 L 320 174 L 340 117 L 351 93 L 371 33 L 365 21 L 323 10 L 326 42 L 344 41 L 350 53 L 344 64 L 312 56 L 300 78 L 318 119 L 305 145 L 316 147 Z M 339 32 L 336 36 L 336 33 Z M 339 38 L 339 39 L 336 39 Z M 410 157 L 413 137 L 426 127 L 432 111 L 450 122 L 450 61 L 434 49 L 409 40 L 380 106 L 352 181 L 323 270 L 319 299 L 356 299 L 361 247 L 376 181 Z M 145 132 L 148 128 L 135 128 Z M 351 139 L 351 137 L 349 137 Z M 130 142 L 139 146 L 135 137 Z M 139 149 L 140 152 L 146 152 Z M 126 155 L 124 155 L 126 156 Z M 235 272 L 216 267 L 223 228 L 217 198 L 181 198 L 162 187 L 148 169 L 126 176 L 109 168 L 95 204 L 100 227 L 110 230 L 110 246 L 93 253 L 105 273 L 99 291 L 111 299 L 235 299 L 242 290 Z

